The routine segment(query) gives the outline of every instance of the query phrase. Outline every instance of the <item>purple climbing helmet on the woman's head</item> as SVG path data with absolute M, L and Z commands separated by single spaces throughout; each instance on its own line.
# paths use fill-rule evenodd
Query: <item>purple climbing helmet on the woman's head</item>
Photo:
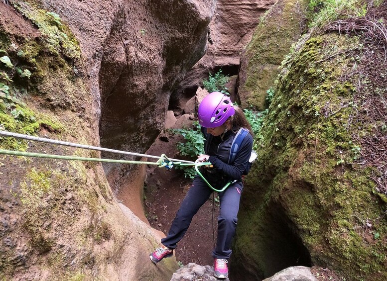
M 199 124 L 205 128 L 215 128 L 234 115 L 235 109 L 230 97 L 220 92 L 206 95 L 199 105 Z

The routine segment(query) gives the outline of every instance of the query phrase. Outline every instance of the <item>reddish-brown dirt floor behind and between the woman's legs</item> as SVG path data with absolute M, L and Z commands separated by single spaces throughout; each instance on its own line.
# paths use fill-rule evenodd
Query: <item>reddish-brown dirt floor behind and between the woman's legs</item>
M 161 155 L 181 159 L 176 149 L 176 143 L 183 140 L 182 136 L 169 137 L 169 141 L 157 138 L 147 151 L 149 155 Z M 144 188 L 144 208 L 149 224 L 165 235 L 168 233 L 173 218 L 191 185 L 191 181 L 184 178 L 180 170 L 148 166 L 147 179 Z M 215 197 L 217 194 L 215 194 Z M 214 248 L 212 231 L 212 196 L 194 216 L 184 238 L 179 242 L 176 250 L 176 260 L 186 265 L 194 262 L 199 265 L 213 265 L 211 252 Z M 219 203 L 215 202 L 214 232 L 216 241 L 217 218 Z

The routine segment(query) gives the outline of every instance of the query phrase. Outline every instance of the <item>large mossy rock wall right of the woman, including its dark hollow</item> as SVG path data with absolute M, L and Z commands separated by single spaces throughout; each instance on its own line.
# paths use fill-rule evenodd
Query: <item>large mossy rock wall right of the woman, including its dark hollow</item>
M 356 23 L 314 22 L 319 28 L 282 62 L 242 196 L 230 263 L 236 280 L 311 264 L 346 279 L 387 279 L 386 43 L 351 28 L 381 17 L 386 3 Z M 351 53 L 369 40 L 375 45 Z

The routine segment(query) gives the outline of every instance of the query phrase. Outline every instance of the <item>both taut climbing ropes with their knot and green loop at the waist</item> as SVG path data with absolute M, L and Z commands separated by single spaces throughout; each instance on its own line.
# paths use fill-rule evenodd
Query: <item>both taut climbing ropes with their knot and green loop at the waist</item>
M 82 144 L 77 144 L 77 143 L 28 136 L 28 135 L 17 134 L 17 133 L 1 131 L 1 130 L 0 130 L 0 136 L 19 138 L 19 139 L 24 139 L 24 140 L 32 140 L 32 141 L 38 141 L 38 142 L 43 142 L 43 143 L 57 144 L 57 145 L 70 146 L 70 147 L 89 149 L 89 150 L 106 151 L 106 152 L 119 153 L 119 154 L 131 155 L 131 156 L 138 156 L 138 157 L 155 158 L 158 160 L 156 162 L 148 162 L 148 161 L 116 160 L 116 159 L 104 159 L 104 158 L 87 158 L 87 157 L 64 156 L 64 155 L 32 153 L 32 152 L 12 151 L 12 150 L 0 149 L 0 154 L 4 154 L 4 155 L 49 158 L 49 159 L 60 159 L 60 160 L 108 162 L 108 163 L 121 163 L 121 164 L 147 164 L 147 165 L 157 165 L 160 168 L 165 167 L 168 170 L 172 169 L 173 167 L 178 167 L 178 166 L 194 166 L 198 175 L 203 179 L 203 181 L 208 185 L 208 187 L 210 187 L 214 191 L 222 192 L 227 187 L 229 187 L 231 184 L 231 182 L 227 183 L 222 189 L 216 189 L 215 187 L 211 186 L 211 184 L 203 177 L 202 173 L 200 173 L 200 171 L 199 171 L 199 167 L 201 167 L 201 166 L 207 166 L 207 167 L 210 166 L 211 167 L 210 162 L 198 162 L 198 161 L 192 162 L 192 161 L 187 161 L 187 160 L 168 158 L 165 154 L 162 154 L 161 156 L 140 154 L 140 153 L 127 152 L 127 151 L 121 151 L 121 150 L 115 150 L 115 149 L 109 149 L 109 148 L 103 148 L 103 147 L 97 147 L 97 146 L 82 145 Z

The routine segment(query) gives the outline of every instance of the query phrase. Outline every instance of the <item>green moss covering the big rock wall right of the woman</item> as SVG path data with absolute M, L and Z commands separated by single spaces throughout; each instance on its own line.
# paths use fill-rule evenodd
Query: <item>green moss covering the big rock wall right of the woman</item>
M 270 237 L 275 226 L 268 221 L 277 219 L 264 210 L 274 207 L 284 209 L 313 264 L 328 265 L 353 280 L 387 277 L 387 243 L 374 238 L 375 232 L 386 235 L 386 222 L 378 219 L 386 207 L 374 195 L 372 169 L 351 166 L 362 149 L 353 136 L 367 133 L 350 118 L 361 106 L 353 99 L 357 77 L 340 80 L 352 71 L 354 62 L 345 53 L 358 40 L 309 36 L 282 63 L 262 137 L 256 139 L 258 160 L 247 180 L 246 210 L 241 211 L 237 232 L 236 252 L 241 259 L 254 259 L 251 266 L 257 272 L 269 271 L 259 258 L 269 249 L 248 237 Z M 260 207 L 253 211 L 257 202 Z

